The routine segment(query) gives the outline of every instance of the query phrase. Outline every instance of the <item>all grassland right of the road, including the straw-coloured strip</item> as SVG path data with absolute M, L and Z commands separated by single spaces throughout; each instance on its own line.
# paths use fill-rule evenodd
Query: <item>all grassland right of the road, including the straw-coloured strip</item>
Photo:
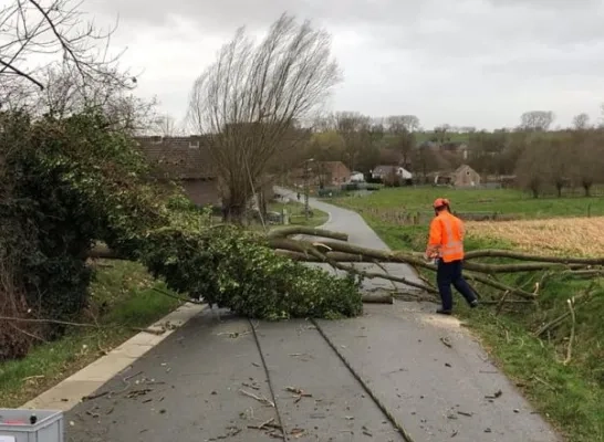
M 548 198 L 533 200 L 512 190 L 385 189 L 365 198 L 344 198 L 336 203 L 357 210 L 393 249 L 424 251 L 428 225 L 400 223 L 392 217 L 402 211 L 426 210 L 437 197 L 447 197 L 454 210 L 498 211 L 518 221 L 467 222 L 467 250 L 514 249 L 533 253 L 602 256 L 604 200 L 600 198 Z M 592 214 L 585 218 L 586 213 Z M 385 215 L 390 213 L 390 215 Z M 566 218 L 565 218 L 566 217 Z M 570 218 L 576 217 L 576 218 Z M 498 262 L 504 262 L 499 260 Z M 425 275 L 434 280 L 434 273 Z M 581 280 L 563 272 L 498 275 L 513 286 L 532 291 L 540 282 L 537 305 L 510 305 L 499 315 L 494 308 L 469 311 L 459 297 L 457 315 L 482 340 L 502 370 L 522 389 L 534 407 L 569 441 L 604 441 L 604 280 Z M 477 285 L 482 298 L 494 293 Z M 569 312 L 566 301 L 586 292 L 576 305 L 575 338 L 565 365 L 572 322 L 570 318 L 540 338 L 543 324 Z M 500 296 L 501 294 L 497 294 Z

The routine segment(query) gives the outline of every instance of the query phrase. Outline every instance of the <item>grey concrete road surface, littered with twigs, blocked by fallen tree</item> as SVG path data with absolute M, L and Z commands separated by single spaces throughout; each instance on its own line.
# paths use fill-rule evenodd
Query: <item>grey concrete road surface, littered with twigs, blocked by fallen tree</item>
M 385 248 L 356 213 L 311 202 L 331 212 L 326 228 Z M 434 307 L 366 305 L 319 328 L 206 311 L 70 411 L 67 440 L 269 441 L 282 428 L 284 440 L 404 441 L 399 427 L 416 442 L 559 440 Z

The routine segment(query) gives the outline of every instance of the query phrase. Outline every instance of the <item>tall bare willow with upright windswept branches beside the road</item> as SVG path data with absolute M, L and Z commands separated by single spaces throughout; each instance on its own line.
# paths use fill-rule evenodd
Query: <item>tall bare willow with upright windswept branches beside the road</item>
M 223 187 L 225 218 L 241 222 L 267 165 L 296 120 L 311 120 L 341 80 L 331 39 L 282 14 L 254 45 L 239 29 L 192 87 L 189 122 L 205 134 Z

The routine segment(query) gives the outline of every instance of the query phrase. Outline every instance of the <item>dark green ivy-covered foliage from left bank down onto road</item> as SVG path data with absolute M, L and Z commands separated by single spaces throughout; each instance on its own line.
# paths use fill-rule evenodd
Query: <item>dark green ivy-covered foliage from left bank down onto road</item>
M 171 288 L 242 315 L 361 312 L 354 278 L 278 257 L 262 236 L 208 228 L 211 210 L 174 185 L 153 182 L 133 140 L 110 130 L 103 116 L 4 114 L 0 123 L 0 257 L 11 262 L 40 316 L 65 318 L 86 305 L 93 276 L 86 257 L 96 241 L 140 261 Z

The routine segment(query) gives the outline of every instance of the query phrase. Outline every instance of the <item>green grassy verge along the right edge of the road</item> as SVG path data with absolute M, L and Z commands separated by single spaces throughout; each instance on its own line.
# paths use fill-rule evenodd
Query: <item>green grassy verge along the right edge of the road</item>
M 424 250 L 427 225 L 393 225 L 371 215 L 365 219 L 390 248 Z M 510 239 L 478 235 L 470 235 L 466 245 L 468 250 L 513 248 Z M 435 277 L 430 271 L 425 276 L 433 281 Z M 543 273 L 514 274 L 499 278 L 532 291 L 534 282 L 543 276 Z M 490 307 L 470 311 L 456 295 L 456 315 L 481 339 L 535 409 L 573 442 L 604 441 L 604 283 L 602 278 L 592 283 L 593 280 L 550 274 L 541 286 L 538 305 L 510 305 L 499 315 Z M 567 312 L 566 299 L 587 288 L 593 296 L 576 305 L 572 357 L 564 364 L 571 319 L 566 318 L 541 338 L 533 333 Z M 494 295 L 485 286 L 477 290 L 483 298 Z

